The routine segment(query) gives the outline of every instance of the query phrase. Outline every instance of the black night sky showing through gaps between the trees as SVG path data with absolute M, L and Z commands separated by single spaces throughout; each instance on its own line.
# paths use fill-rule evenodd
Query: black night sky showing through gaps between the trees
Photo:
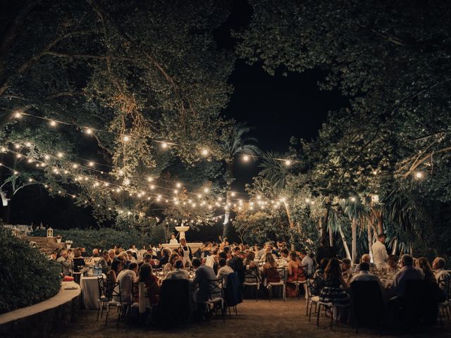
M 246 1 L 236 0 L 227 22 L 216 32 L 218 46 L 233 49 L 235 41 L 230 30 L 246 27 L 251 15 Z M 249 65 L 238 59 L 230 77 L 234 92 L 223 113 L 227 118 L 252 127 L 249 136 L 258 139 L 257 145 L 261 150 L 285 153 L 290 137 L 316 137 L 328 111 L 347 105 L 346 99 L 338 92 L 319 90 L 317 82 L 323 80 L 323 76 L 319 70 L 288 73 L 286 76 L 278 71 L 271 76 L 260 64 Z M 258 162 L 243 163 L 238 158 L 235 161 L 233 190 L 244 192 L 245 183 L 252 182 L 252 177 L 258 172 Z M 43 189 L 23 189 L 10 203 L 13 224 L 33 222 L 36 225 L 43 220 L 58 228 L 95 226 L 89 208 L 79 208 L 70 199 L 51 198 Z M 64 213 L 55 213 L 55 210 Z

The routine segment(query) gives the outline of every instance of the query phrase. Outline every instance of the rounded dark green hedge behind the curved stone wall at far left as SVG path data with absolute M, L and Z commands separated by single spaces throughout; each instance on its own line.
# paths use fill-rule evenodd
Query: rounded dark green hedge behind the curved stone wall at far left
M 61 265 L 3 228 L 0 262 L 0 313 L 45 301 L 61 287 Z

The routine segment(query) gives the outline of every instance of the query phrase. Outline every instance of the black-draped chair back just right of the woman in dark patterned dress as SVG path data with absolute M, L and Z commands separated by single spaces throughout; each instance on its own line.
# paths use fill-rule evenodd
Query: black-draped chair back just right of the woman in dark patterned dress
M 350 303 L 356 325 L 365 327 L 381 325 L 385 314 L 385 304 L 381 287 L 376 280 L 352 282 Z

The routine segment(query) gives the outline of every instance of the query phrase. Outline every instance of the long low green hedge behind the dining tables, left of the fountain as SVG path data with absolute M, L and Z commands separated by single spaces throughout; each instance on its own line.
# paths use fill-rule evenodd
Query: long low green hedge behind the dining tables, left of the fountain
M 157 228 L 155 229 L 157 230 Z M 117 245 L 128 249 L 130 245 L 135 244 L 137 248 L 142 246 L 149 246 L 149 244 L 162 243 L 164 241 L 161 238 L 162 234 L 154 231 L 152 234 L 143 236 L 137 230 L 113 230 L 113 229 L 70 229 L 70 230 L 58 230 L 54 229 L 54 236 L 60 235 L 63 238 L 61 242 L 67 240 L 73 241 L 72 247 L 84 247 L 90 253 L 94 248 L 110 249 Z M 47 236 L 47 230 L 35 230 L 32 236 L 44 237 Z

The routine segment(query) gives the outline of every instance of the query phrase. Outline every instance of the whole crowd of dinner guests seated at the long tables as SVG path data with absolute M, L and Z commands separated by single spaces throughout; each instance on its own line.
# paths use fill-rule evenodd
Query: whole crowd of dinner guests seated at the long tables
M 172 238 L 173 243 L 177 239 Z M 162 271 L 164 279 L 190 280 L 194 301 L 204 302 L 209 296 L 208 280 L 221 279 L 223 287 L 227 287 L 228 275 L 237 273 L 240 284 L 280 282 L 278 268 L 286 270 L 287 296 L 299 296 L 299 292 L 307 289 L 299 288 L 299 282 L 311 281 L 311 293 L 318 295 L 321 301 L 333 303 L 349 302 L 350 285 L 354 281 L 376 281 L 386 299 L 396 304 L 404 296 L 407 280 L 426 280 L 436 285 L 438 299 L 444 300 L 447 295 L 450 275 L 445 270 L 443 258 L 435 258 L 432 265 L 424 257 L 412 258 L 403 255 L 388 255 L 385 248 L 385 235 L 381 234 L 372 246 L 371 256 L 364 254 L 359 265 L 353 265 L 349 258 L 341 260 L 333 256 L 333 251 L 318 251 L 316 257 L 307 251 L 290 251 L 285 242 L 268 242 L 264 246 L 248 246 L 244 244 L 207 243 L 201 249 L 193 251 L 185 239 L 175 249 L 151 246 L 148 249 L 129 249 L 114 247 L 109 250 L 94 249 L 92 261 L 111 282 L 120 282 L 123 301 L 132 299 L 132 282 L 144 282 L 149 302 L 159 301 L 162 277 L 157 277 L 155 269 Z M 178 244 L 178 243 L 177 243 Z M 322 256 L 320 253 L 323 253 Z M 330 257 L 326 257 L 326 254 Z M 64 273 L 77 272 L 85 265 L 86 251 L 66 250 L 51 255 L 60 262 Z M 316 258 L 316 260 L 314 259 Z M 252 273 L 250 273 L 252 272 Z M 391 275 L 391 282 L 383 282 L 381 272 Z

